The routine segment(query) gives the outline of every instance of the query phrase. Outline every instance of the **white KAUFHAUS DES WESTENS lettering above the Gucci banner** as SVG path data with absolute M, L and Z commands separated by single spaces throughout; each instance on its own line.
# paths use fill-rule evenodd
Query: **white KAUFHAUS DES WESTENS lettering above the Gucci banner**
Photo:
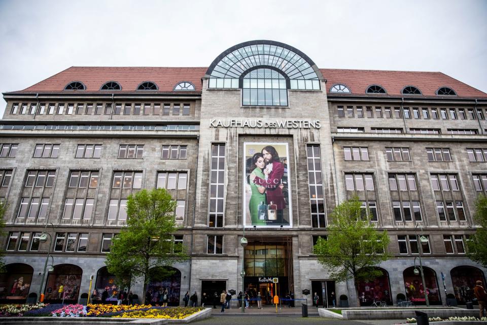
M 210 127 L 320 128 L 320 120 L 211 119 Z

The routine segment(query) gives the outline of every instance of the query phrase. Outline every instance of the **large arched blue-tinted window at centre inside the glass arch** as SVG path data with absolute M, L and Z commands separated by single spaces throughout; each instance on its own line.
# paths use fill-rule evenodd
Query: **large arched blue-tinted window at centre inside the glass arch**
M 287 106 L 286 78 L 271 69 L 252 70 L 243 76 L 242 105 Z

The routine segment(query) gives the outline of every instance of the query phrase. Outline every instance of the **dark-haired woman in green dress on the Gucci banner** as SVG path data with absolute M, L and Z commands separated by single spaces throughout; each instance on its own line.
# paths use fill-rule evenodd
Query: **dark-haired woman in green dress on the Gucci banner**
M 252 171 L 251 174 L 254 174 L 261 179 L 265 179 L 265 175 L 263 169 L 265 167 L 264 156 L 262 153 L 256 153 L 252 157 L 252 164 L 255 166 L 255 169 Z M 250 197 L 249 202 L 249 210 L 252 225 L 263 225 L 266 224 L 266 207 L 267 202 L 265 200 L 265 187 L 255 184 L 254 182 L 250 181 L 250 188 L 252 190 L 252 196 Z M 259 210 L 259 205 L 261 209 Z M 259 213 L 260 212 L 260 213 Z

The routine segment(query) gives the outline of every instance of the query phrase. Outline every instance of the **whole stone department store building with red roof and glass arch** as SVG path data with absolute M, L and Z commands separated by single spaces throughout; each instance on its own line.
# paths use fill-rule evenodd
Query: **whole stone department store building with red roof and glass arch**
M 169 287 L 172 305 L 186 291 L 238 292 L 242 278 L 264 303 L 308 289 L 353 304 L 353 282 L 334 282 L 313 245 L 354 193 L 392 254 L 359 284 L 362 304 L 425 303 L 420 254 L 431 304 L 485 284 L 465 248 L 487 191 L 487 94 L 440 72 L 320 69 L 292 46 L 251 41 L 209 68 L 71 67 L 3 95 L 4 302 L 40 290 L 55 301 L 61 284 L 75 302 L 91 276 L 92 291 L 116 296 L 106 255 L 126 198 L 154 187 L 177 200 L 174 240 L 189 255 L 150 284 L 154 299 Z

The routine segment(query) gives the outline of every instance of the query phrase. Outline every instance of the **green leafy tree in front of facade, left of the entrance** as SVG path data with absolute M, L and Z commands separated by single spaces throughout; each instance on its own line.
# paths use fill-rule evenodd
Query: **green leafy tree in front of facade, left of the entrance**
M 162 280 L 168 267 L 187 258 L 181 245 L 175 246 L 176 201 L 162 188 L 131 194 L 127 198 L 127 226 L 113 241 L 107 255 L 109 272 L 123 279 L 142 278 L 145 302 L 147 285 Z M 154 272 L 157 270 L 158 272 Z

